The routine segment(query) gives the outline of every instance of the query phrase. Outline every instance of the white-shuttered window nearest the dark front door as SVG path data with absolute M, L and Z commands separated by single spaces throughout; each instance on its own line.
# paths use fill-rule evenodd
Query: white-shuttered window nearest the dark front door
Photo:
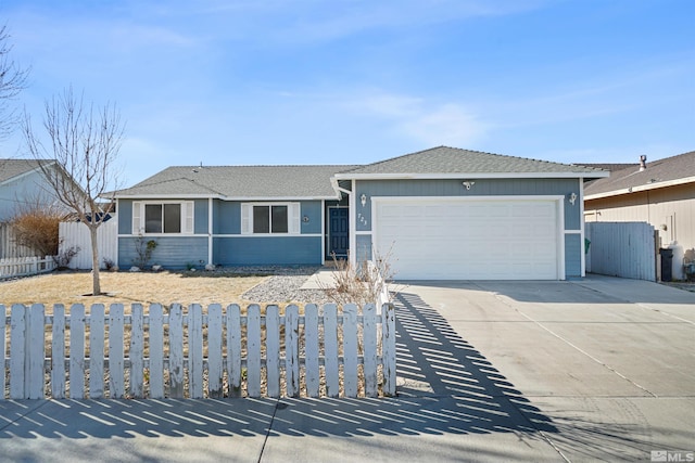
M 299 234 L 300 203 L 243 203 L 242 234 Z

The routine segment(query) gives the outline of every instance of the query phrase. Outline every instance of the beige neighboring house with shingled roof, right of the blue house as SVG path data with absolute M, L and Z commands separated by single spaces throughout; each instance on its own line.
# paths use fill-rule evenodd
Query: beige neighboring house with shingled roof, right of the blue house
M 584 217 L 587 222 L 648 222 L 662 247 L 680 248 L 674 259 L 695 253 L 695 152 L 611 169 L 609 178 L 586 185 Z

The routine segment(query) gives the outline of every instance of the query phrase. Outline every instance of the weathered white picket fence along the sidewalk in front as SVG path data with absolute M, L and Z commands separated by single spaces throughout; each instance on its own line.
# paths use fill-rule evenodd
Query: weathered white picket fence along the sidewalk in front
M 395 394 L 395 316 L 384 304 L 0 305 L 2 398 L 377 397 Z M 9 330 L 8 330 L 9 326 Z M 86 343 L 87 342 L 87 343 Z M 50 356 L 49 356 L 50 353 Z M 9 377 L 8 377 L 9 376 Z

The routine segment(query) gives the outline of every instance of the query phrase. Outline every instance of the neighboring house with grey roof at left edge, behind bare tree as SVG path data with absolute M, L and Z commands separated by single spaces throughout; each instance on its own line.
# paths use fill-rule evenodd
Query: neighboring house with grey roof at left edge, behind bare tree
M 0 159 L 0 222 L 9 221 L 27 206 L 56 203 L 38 163 L 34 159 Z M 54 165 L 49 159 L 40 163 Z

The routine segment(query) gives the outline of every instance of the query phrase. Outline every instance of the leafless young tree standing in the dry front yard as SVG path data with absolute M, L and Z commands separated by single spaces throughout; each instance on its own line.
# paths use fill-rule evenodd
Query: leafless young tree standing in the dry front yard
M 58 201 L 75 211 L 89 228 L 92 259 L 92 294 L 101 294 L 99 282 L 99 245 L 97 230 L 114 203 L 119 188 L 115 164 L 124 136 L 121 115 L 112 104 L 94 108 L 85 106 L 68 88 L 59 98 L 47 101 L 43 127 L 50 142 L 47 149 L 36 136 L 31 120 L 25 115 L 24 139 L 31 156 L 39 162 L 43 177 Z M 100 200 L 109 203 L 102 207 Z

